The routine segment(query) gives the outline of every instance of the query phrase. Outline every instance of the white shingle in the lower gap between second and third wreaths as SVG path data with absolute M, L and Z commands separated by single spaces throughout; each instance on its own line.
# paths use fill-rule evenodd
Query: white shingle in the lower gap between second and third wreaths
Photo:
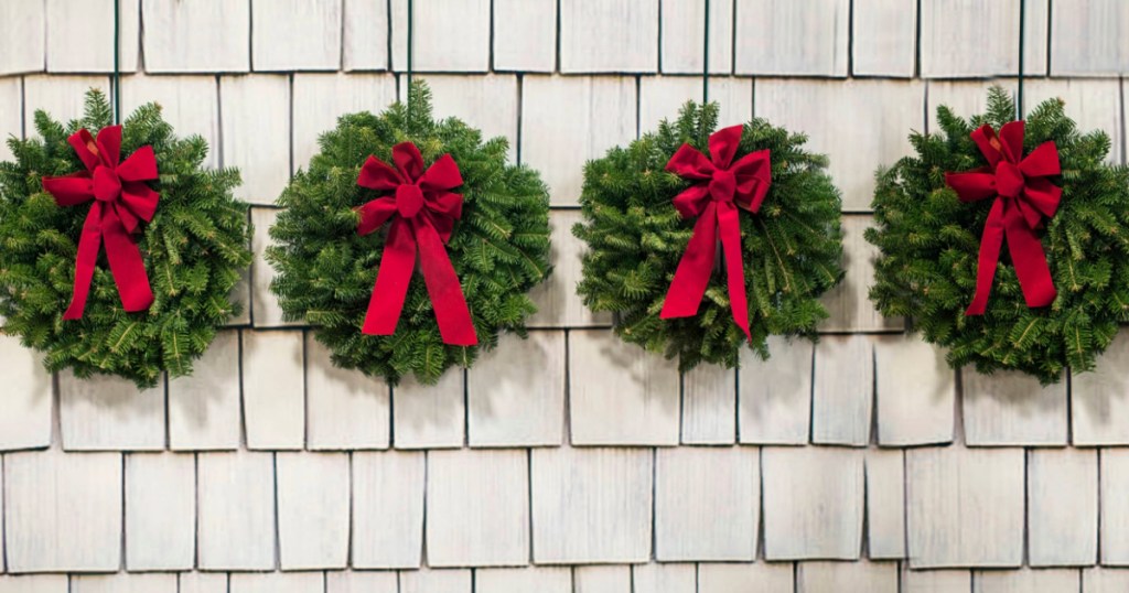
M 553 273 L 530 290 L 530 298 L 537 306 L 537 312 L 527 322 L 531 328 L 584 328 L 612 323 L 611 314 L 593 313 L 576 294 L 576 284 L 583 276 L 580 258 L 585 252 L 585 243 L 572 235 L 572 225 L 579 221 L 578 210 L 549 212 L 549 261 L 553 264 Z

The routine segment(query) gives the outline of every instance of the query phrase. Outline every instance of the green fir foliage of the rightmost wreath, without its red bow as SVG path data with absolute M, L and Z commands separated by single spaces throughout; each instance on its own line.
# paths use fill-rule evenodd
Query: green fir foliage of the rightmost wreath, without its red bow
M 1014 116 L 1015 103 L 999 87 L 989 91 L 987 113 L 970 120 L 940 106 L 939 133 L 914 132 L 917 155 L 879 171 L 876 226 L 866 233 L 881 251 L 870 298 L 884 315 L 907 316 L 927 341 L 947 348 L 954 368 L 1015 369 L 1050 384 L 1067 366 L 1093 369 L 1118 324 L 1129 321 L 1129 168 L 1105 162 L 1109 136 L 1080 133 L 1061 99 L 1035 107 L 1026 119 L 1023 155 L 1053 141 L 1061 165 L 1060 175 L 1048 177 L 1061 188 L 1058 210 L 1035 230 L 1053 280 L 1050 305 L 1025 302 L 1008 248 L 989 268 L 995 282 L 984 314 L 965 315 L 994 204 L 962 202 L 946 185 L 946 173 L 984 165 L 970 134 L 984 124 L 998 130 Z

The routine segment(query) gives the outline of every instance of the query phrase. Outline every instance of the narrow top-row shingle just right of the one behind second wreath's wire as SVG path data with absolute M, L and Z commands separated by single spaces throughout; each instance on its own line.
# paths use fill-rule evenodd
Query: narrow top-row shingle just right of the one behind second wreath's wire
M 493 27 L 495 70 L 557 68 L 557 0 L 495 0 Z

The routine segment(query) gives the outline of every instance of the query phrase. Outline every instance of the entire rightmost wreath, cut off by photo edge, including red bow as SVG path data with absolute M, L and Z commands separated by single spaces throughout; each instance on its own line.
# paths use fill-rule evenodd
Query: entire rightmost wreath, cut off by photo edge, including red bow
M 1014 119 L 998 87 L 971 120 L 942 106 L 939 133 L 913 133 L 917 155 L 879 172 L 870 298 L 954 368 L 1045 384 L 1092 369 L 1129 321 L 1129 169 L 1060 99 Z

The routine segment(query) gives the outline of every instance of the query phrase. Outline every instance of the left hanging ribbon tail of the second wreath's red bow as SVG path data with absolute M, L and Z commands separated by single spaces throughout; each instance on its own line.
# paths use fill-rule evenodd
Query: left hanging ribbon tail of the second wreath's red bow
M 384 242 L 384 255 L 380 258 L 380 269 L 376 273 L 361 333 L 392 335 L 396 332 L 414 268 L 415 237 L 402 219 L 396 219 L 388 227 L 388 237 Z

